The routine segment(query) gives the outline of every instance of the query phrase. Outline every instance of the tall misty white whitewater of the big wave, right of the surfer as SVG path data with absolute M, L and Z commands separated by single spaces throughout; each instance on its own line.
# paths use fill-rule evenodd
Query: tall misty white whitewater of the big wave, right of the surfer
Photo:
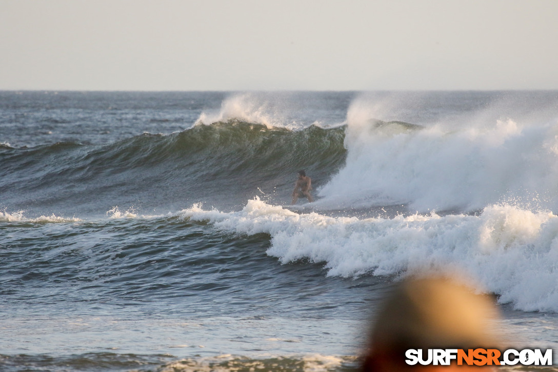
M 346 164 L 318 189 L 320 197 L 342 198 L 348 206 L 408 203 L 420 212 L 471 211 L 509 199 L 558 209 L 556 121 L 476 112 L 422 130 L 374 126 L 371 119 L 391 119 L 391 109 L 353 102 Z

